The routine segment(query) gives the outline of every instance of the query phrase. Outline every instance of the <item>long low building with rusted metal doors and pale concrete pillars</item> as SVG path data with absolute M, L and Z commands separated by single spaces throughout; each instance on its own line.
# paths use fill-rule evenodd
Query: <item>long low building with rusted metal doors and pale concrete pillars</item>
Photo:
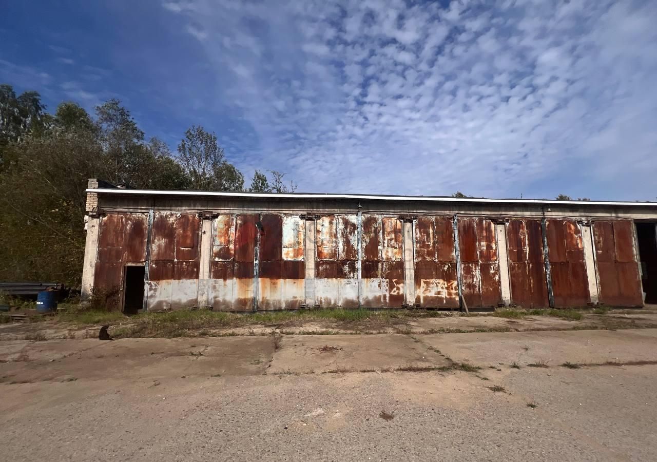
M 83 296 L 193 306 L 566 308 L 657 298 L 657 203 L 87 189 Z M 93 288 L 93 289 L 92 289 Z

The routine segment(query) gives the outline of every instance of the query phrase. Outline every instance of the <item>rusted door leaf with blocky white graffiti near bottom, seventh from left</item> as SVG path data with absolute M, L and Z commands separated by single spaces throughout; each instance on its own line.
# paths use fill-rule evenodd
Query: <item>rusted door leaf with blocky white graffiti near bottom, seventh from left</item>
M 424 308 L 459 307 L 451 217 L 420 217 L 415 222 L 415 303 Z

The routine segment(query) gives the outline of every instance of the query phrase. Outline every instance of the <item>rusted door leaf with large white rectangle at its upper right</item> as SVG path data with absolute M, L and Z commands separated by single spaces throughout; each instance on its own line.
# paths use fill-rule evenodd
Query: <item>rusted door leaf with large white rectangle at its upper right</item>
M 303 221 L 263 214 L 260 222 L 258 310 L 296 310 L 305 293 Z

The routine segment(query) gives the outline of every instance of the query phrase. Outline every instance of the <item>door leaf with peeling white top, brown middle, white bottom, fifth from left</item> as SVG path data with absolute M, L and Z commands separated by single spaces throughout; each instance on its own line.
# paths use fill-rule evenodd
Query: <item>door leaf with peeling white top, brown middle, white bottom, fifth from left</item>
M 317 220 L 315 296 L 322 307 L 358 307 L 358 258 L 355 215 L 330 215 Z

